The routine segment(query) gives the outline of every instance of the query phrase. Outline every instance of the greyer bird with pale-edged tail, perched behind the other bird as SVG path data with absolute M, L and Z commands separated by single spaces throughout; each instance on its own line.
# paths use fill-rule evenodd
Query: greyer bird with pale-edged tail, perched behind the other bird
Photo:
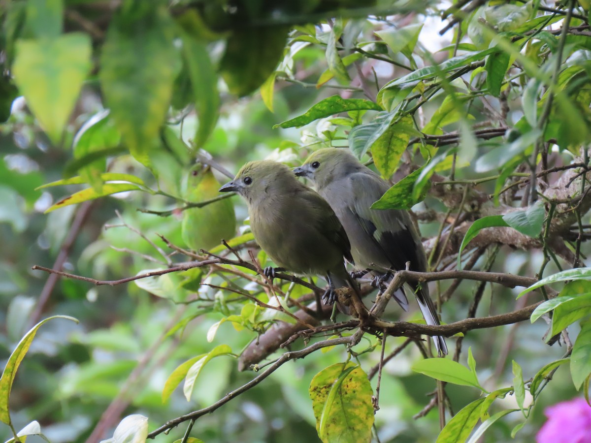
M 351 242 L 352 263 L 356 268 L 371 270 L 378 281 L 388 279 L 389 271 L 406 269 L 407 262 L 412 271 L 427 271 L 427 256 L 410 215 L 397 209 L 370 209 L 389 184 L 361 164 L 349 149 L 319 149 L 294 173 L 310 178 L 316 191 L 339 217 Z M 413 292 L 426 323 L 439 325 L 427 285 L 414 285 Z M 394 298 L 408 310 L 403 289 Z M 433 340 L 437 352 L 447 354 L 443 337 Z

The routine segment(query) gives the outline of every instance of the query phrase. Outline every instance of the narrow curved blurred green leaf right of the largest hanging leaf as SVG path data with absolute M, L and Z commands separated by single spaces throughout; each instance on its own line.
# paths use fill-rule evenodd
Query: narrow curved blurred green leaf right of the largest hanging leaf
M 207 53 L 206 46 L 183 33 L 183 57 L 189 69 L 193 88 L 195 110 L 199 118 L 193 144 L 202 146 L 216 126 L 219 117 L 220 97 L 217 91 L 217 74 Z

